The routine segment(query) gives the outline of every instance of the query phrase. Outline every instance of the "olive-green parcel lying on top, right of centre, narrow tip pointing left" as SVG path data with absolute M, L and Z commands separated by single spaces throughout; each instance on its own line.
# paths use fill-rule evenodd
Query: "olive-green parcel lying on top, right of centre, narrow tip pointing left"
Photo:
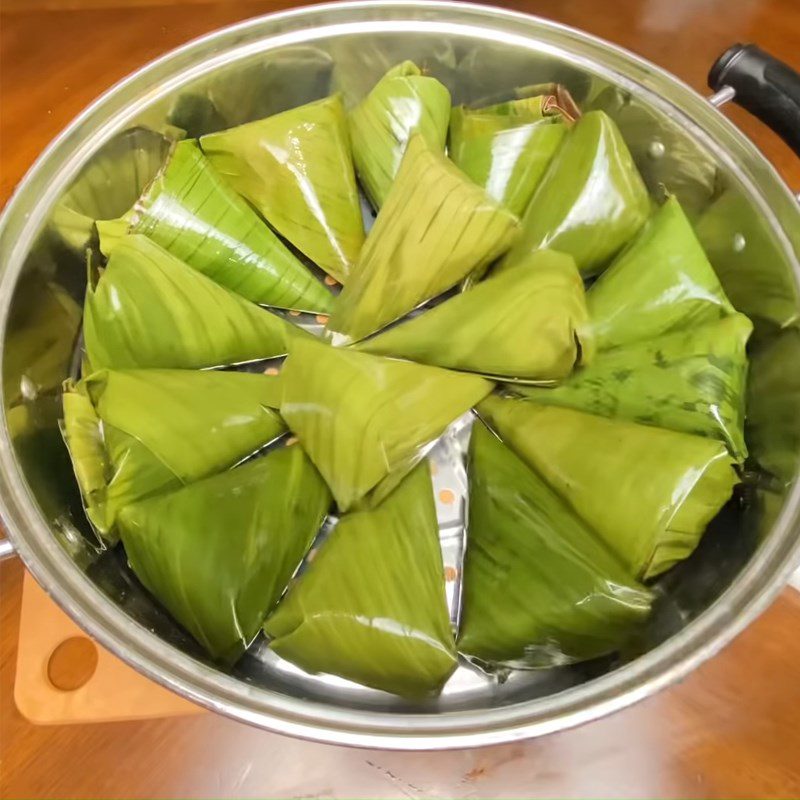
M 494 378 L 552 382 L 590 353 L 588 334 L 575 262 L 539 250 L 354 349 Z

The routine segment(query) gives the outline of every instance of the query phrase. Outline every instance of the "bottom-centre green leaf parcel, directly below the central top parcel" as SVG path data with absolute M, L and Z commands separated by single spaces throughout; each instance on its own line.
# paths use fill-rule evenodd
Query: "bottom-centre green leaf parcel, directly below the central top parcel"
M 264 624 L 270 648 L 405 697 L 440 691 L 457 661 L 438 533 L 422 463 L 377 508 L 339 521 Z

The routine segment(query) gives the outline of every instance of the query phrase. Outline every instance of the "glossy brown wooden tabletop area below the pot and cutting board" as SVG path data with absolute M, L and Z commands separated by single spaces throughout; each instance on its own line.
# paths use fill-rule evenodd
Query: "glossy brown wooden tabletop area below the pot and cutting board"
M 4 798 L 800 796 L 800 594 L 679 686 L 545 739 L 452 753 L 297 742 L 203 714 L 33 726 L 11 701 L 22 568 L 0 567 Z

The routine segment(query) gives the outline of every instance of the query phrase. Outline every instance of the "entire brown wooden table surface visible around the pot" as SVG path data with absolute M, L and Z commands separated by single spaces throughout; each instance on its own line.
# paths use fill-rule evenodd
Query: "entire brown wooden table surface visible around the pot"
M 0 0 L 0 203 L 47 142 L 126 73 L 276 0 Z M 705 91 L 729 44 L 800 67 L 800 0 L 520 0 L 628 47 Z M 731 116 L 800 190 L 800 160 Z M 37 727 L 13 704 L 22 567 L 0 567 L 2 797 L 798 797 L 800 593 L 786 590 L 681 685 L 544 740 L 447 754 L 342 750 L 211 714 Z

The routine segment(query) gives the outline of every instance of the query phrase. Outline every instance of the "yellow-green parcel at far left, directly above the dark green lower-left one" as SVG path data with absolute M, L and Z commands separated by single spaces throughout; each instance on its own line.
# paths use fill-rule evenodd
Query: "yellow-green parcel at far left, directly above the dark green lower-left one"
M 64 393 L 87 515 L 113 539 L 131 502 L 228 469 L 285 426 L 278 379 L 244 372 L 102 370 Z

